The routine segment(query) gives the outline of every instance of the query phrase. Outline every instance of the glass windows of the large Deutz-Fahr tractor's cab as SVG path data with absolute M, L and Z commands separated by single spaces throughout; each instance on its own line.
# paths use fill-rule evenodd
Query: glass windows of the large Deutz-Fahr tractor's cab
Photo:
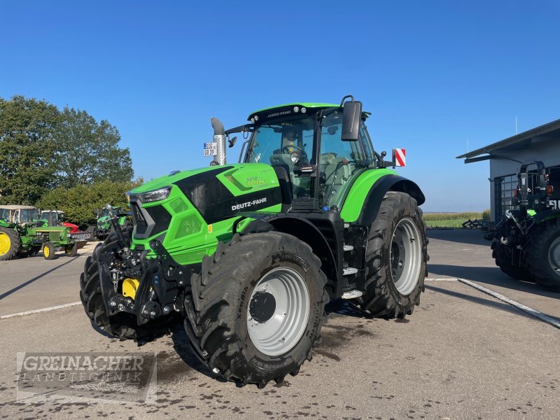
M 244 162 L 272 165 L 279 176 L 285 169 L 293 199 L 313 197 L 318 199 L 320 208 L 340 207 L 351 181 L 368 167 L 375 167 L 374 151 L 363 122 L 356 141 L 342 141 L 343 111 L 331 108 L 321 112 L 256 125 Z M 317 127 L 320 133 L 315 133 Z M 318 139 L 320 150 L 314 143 Z M 300 162 L 297 155 L 291 155 L 295 151 L 300 152 Z M 318 171 L 314 175 L 302 173 L 301 162 L 318 167 Z

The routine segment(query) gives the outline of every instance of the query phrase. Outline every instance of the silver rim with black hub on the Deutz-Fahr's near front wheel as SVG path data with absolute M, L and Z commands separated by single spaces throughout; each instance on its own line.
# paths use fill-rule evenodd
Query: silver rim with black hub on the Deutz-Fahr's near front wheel
M 262 276 L 247 308 L 251 342 L 267 356 L 279 356 L 300 341 L 309 319 L 309 290 L 294 269 L 278 267 Z

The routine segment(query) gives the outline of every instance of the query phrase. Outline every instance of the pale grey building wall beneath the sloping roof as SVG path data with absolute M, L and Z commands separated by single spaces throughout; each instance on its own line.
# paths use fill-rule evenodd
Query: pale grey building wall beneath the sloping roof
M 526 162 L 528 160 L 541 160 L 545 167 L 560 165 L 560 138 L 547 141 L 533 141 L 530 147 L 520 151 L 494 151 L 492 154 L 510 159 Z M 490 209 L 492 220 L 497 220 L 501 215 L 496 214 L 496 191 L 494 179 L 500 176 L 515 174 L 521 163 L 506 159 L 490 160 Z M 535 169 L 536 167 L 529 167 Z

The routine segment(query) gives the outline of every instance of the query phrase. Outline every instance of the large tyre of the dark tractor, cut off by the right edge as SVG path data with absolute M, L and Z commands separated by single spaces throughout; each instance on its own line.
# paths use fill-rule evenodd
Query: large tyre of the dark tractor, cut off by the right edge
M 532 279 L 560 292 L 560 219 L 536 225 L 523 248 Z

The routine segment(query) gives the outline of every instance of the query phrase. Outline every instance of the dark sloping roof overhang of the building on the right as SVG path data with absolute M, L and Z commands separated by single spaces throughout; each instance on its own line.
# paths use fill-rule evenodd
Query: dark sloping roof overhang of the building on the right
M 526 132 L 515 134 L 512 137 L 489 144 L 475 151 L 457 156 L 457 159 L 465 159 L 465 163 L 480 162 L 489 159 L 508 159 L 500 156 L 500 152 L 519 151 L 531 146 L 538 141 L 560 139 L 560 120 L 552 121 L 545 125 L 532 128 Z

